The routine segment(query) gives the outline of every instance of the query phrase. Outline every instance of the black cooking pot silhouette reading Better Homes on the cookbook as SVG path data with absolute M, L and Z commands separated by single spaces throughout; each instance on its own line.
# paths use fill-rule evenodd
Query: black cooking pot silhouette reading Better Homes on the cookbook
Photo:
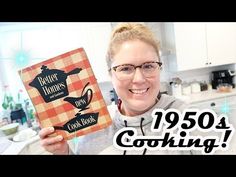
M 35 87 L 46 103 L 67 96 L 68 88 L 66 79 L 69 75 L 78 74 L 82 69 L 75 68 L 65 73 L 63 70 L 48 69 L 47 66 L 41 67 L 41 73 L 38 74 L 32 82 L 31 87 Z

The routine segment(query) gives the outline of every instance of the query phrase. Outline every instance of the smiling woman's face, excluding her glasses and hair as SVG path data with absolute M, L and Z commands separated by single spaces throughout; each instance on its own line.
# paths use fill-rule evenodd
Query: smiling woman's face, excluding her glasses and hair
M 121 44 L 113 57 L 112 67 L 132 64 L 142 65 L 145 62 L 159 62 L 155 49 L 142 41 L 126 41 Z M 122 113 L 127 116 L 140 115 L 152 107 L 160 89 L 160 71 L 145 77 L 140 67 L 136 68 L 133 77 L 120 80 L 112 70 L 112 83 L 118 97 L 122 100 Z

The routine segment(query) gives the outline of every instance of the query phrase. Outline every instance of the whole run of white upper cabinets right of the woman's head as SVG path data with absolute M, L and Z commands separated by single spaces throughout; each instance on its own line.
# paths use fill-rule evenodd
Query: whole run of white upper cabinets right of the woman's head
M 170 69 L 184 71 L 236 62 L 236 23 L 164 23 Z

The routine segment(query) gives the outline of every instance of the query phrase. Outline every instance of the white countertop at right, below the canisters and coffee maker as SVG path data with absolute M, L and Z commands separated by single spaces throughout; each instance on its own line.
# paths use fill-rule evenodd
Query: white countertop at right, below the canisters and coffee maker
M 234 95 L 236 95 L 235 88 L 232 89 L 232 92 L 227 92 L 227 93 L 219 93 L 215 89 L 213 89 L 213 90 L 208 90 L 208 91 L 202 91 L 199 93 L 194 93 L 191 95 L 186 95 L 186 96 L 184 95 L 178 98 L 190 104 L 193 104 L 193 103 L 198 103 L 202 101 L 209 101 L 212 99 L 225 98 L 225 97 L 234 96 Z

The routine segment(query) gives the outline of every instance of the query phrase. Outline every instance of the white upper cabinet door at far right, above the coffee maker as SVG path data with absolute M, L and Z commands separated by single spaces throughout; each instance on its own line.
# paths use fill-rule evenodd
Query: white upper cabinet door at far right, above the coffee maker
M 236 23 L 207 23 L 206 36 L 211 66 L 236 62 Z

